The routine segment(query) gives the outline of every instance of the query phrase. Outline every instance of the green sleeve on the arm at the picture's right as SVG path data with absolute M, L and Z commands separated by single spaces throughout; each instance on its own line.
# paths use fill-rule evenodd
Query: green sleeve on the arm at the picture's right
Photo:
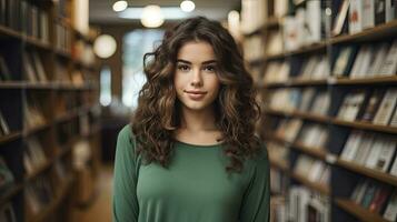
M 250 173 L 250 182 L 244 195 L 240 222 L 270 221 L 270 170 L 265 145 Z

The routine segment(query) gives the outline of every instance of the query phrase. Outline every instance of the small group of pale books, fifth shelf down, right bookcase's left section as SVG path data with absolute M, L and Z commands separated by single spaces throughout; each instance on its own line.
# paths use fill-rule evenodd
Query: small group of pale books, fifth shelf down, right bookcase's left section
M 294 172 L 311 182 L 329 185 L 330 167 L 322 160 L 301 154 L 296 161 Z

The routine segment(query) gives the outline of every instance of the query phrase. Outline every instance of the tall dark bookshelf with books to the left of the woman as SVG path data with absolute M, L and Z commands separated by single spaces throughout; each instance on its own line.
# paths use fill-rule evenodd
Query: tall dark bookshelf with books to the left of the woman
M 93 37 L 71 23 L 73 1 L 0 4 L 0 171 L 11 172 L 0 184 L 0 218 L 8 221 L 70 221 L 87 201 L 76 150 L 89 153 L 85 180 L 98 175 L 99 68 Z

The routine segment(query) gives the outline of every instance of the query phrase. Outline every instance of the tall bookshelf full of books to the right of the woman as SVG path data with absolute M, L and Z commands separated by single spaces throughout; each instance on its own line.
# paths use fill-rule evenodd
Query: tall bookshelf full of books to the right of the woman
M 397 17 L 387 14 L 397 14 L 397 2 L 368 0 L 371 7 L 366 8 L 358 0 L 265 2 L 265 23 L 246 31 L 242 41 L 261 40 L 245 48 L 260 56 L 247 58 L 260 92 L 264 122 L 258 133 L 267 144 L 288 150 L 282 160 L 269 152 L 271 169 L 289 179 L 285 190 L 272 195 L 284 202 L 271 206 L 277 214 L 287 211 L 287 219 L 274 221 L 395 221 Z M 375 11 L 381 2 L 388 7 Z M 367 10 L 366 18 L 350 20 L 357 10 Z M 307 27 L 312 32 L 306 32 Z M 274 32 L 284 43 L 269 54 Z M 325 174 L 325 165 L 330 169 L 327 184 L 309 180 L 311 171 Z M 308 173 L 296 173 L 297 168 Z M 354 201 L 364 180 L 381 189 L 366 186 L 360 192 L 370 199 Z M 328 201 L 312 212 L 309 202 L 318 193 Z M 297 195 L 307 201 L 299 202 L 304 208 L 294 205 Z M 369 200 L 376 212 L 366 205 Z

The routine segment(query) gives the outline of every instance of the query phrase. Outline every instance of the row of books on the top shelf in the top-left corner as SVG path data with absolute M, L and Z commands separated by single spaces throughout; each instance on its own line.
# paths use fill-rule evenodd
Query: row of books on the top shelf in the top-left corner
M 49 42 L 49 12 L 27 0 L 0 0 L 0 26 Z

